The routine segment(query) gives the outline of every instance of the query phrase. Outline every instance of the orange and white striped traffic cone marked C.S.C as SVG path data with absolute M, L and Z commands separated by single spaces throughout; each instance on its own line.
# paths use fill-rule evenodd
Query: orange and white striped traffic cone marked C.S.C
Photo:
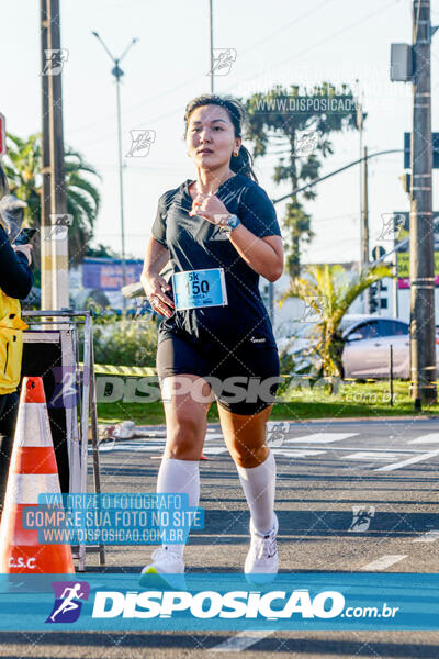
M 36 529 L 23 528 L 23 509 L 52 493 L 60 488 L 43 380 L 24 378 L 0 525 L 0 573 L 75 573 L 70 545 L 41 545 Z

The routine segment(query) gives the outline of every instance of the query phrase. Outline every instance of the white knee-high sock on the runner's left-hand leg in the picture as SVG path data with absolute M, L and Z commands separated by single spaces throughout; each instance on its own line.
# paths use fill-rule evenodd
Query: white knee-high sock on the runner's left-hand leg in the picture
M 188 494 L 189 505 L 200 502 L 200 462 L 162 458 L 157 478 L 157 494 Z M 184 545 L 165 545 L 168 551 L 183 557 Z

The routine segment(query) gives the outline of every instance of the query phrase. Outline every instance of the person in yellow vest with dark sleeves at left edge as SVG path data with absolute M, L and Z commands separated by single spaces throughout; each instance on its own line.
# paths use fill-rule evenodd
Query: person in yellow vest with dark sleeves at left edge
M 8 189 L 0 167 L 0 194 Z M 0 505 L 3 504 L 18 411 L 23 350 L 20 300 L 33 284 L 31 245 L 13 246 L 0 215 Z

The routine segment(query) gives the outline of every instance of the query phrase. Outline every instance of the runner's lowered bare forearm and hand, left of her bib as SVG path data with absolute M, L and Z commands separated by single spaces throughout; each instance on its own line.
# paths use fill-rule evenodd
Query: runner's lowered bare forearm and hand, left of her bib
M 164 277 L 160 277 L 160 271 L 168 260 L 169 249 L 156 241 L 156 238 L 149 238 L 140 282 L 154 311 L 157 311 L 167 319 L 173 313 L 173 302 L 166 294 L 166 291 L 171 290 L 171 286 Z

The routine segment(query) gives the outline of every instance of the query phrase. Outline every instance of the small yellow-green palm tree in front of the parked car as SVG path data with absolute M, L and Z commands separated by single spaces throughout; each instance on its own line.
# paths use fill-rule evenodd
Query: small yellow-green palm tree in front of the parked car
M 320 375 L 342 378 L 342 317 L 372 283 L 392 276 L 390 268 L 380 264 L 353 278 L 349 278 L 340 265 L 308 266 L 305 271 L 308 278 L 294 278 L 281 302 L 286 298 L 299 298 L 306 303 L 307 310 L 318 319 L 309 338 L 320 359 Z

